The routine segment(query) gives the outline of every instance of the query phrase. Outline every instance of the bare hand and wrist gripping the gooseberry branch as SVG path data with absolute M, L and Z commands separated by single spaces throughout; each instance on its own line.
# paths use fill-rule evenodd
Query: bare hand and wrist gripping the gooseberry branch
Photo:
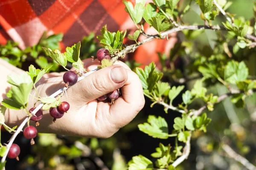
M 100 65 L 97 59 L 85 59 L 83 62 L 87 71 Z M 49 96 L 63 88 L 63 74 L 64 72 L 45 74 L 36 84 L 40 96 Z M 116 99 L 113 105 L 97 100 L 98 97 L 118 88 L 122 91 L 122 96 Z M 37 96 L 35 91 L 31 94 Z M 33 107 L 35 101 L 33 97 L 29 98 L 28 109 Z M 55 123 L 52 122 L 49 111 L 43 111 L 43 118 L 37 127 L 39 133 L 108 138 L 131 122 L 145 104 L 139 77 L 121 61 L 77 82 L 67 89 L 67 96 L 63 95 L 61 101 L 69 102 L 69 111 Z M 24 111 L 8 109 L 5 113 L 6 124 L 11 127 L 19 125 L 25 116 Z M 30 125 L 35 126 L 35 122 L 30 121 Z

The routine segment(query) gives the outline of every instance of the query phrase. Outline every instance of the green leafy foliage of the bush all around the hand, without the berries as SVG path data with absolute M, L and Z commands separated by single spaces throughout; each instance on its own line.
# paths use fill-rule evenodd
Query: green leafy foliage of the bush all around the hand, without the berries
M 190 0 L 183 5 L 180 2 L 180 0 L 153 0 L 153 3 L 145 4 L 145 0 L 136 0 L 133 4 L 124 0 L 125 11 L 138 28 L 127 36 L 134 41 L 134 45 L 123 45 L 126 31 L 111 32 L 106 25 L 103 26 L 101 35 L 97 36 L 99 43 L 110 51 L 112 57 L 102 60 L 102 64 L 98 66 L 101 69 L 113 65 L 118 57 L 124 57 L 125 54 L 133 52 L 150 40 L 164 39 L 169 33 L 178 32 L 180 41 L 175 44 L 168 57 L 166 54 L 158 53 L 161 67 L 157 68 L 154 62 L 144 68 L 139 67 L 134 61 L 126 62 L 140 78 L 144 95 L 152 102 L 151 107 L 156 104 L 163 105 L 166 113 L 179 114 L 173 120 L 169 120 L 165 115 L 150 113 L 147 121 L 142 122 L 144 119 L 141 119 L 140 122 L 134 123 L 135 126 L 133 122 L 129 125 L 169 144 L 165 146 L 160 143 L 159 147 L 151 146 L 156 147 L 156 152 L 151 154 L 153 159 L 138 155 L 133 156 L 125 164 L 121 154 L 114 151 L 116 148 L 113 146 L 113 141 L 117 140 L 116 136 L 105 140 L 70 138 L 72 144 L 67 146 L 59 136 L 57 138 L 54 134 L 40 134 L 39 144 L 35 150 L 45 150 L 46 153 L 42 152 L 36 158 L 29 157 L 29 164 L 38 164 L 40 162 L 38 159 L 46 157 L 44 160 L 47 162 L 46 166 L 56 167 L 58 166 L 54 161 L 56 156 L 64 156 L 68 160 L 80 157 L 83 152 L 76 146 L 77 141 L 90 145 L 96 156 L 102 156 L 102 150 L 111 148 L 111 153 L 115 153 L 113 170 L 120 167 L 128 170 L 174 170 L 177 166 L 186 167 L 186 164 L 192 164 L 183 162 L 189 157 L 192 144 L 200 150 L 201 155 L 207 158 L 216 155 L 220 158 L 224 155 L 221 151 L 222 144 L 229 143 L 236 148 L 234 150 L 250 159 L 253 150 L 251 151 L 249 146 L 253 146 L 254 140 L 248 136 L 255 137 L 251 129 L 255 121 L 253 92 L 256 89 L 256 80 L 250 68 L 256 46 L 255 18 L 246 20 L 244 17 L 236 17 L 235 14 L 225 12 L 232 4 L 227 0 Z M 194 23 L 193 26 L 188 26 L 183 21 L 192 3 L 201 10 L 200 18 L 204 25 Z M 253 8 L 256 12 L 255 4 Z M 221 14 L 224 14 L 225 21 L 221 20 L 220 25 L 215 25 L 217 18 L 218 21 L 221 19 Z M 145 34 L 144 24 L 154 28 L 156 34 Z M 198 45 L 200 43 L 198 39 L 205 34 L 204 29 L 216 32 L 215 40 L 209 40 L 214 42 L 213 45 Z M 147 39 L 139 42 L 140 36 L 146 36 Z M 17 43 L 11 41 L 0 46 L 1 58 L 11 64 L 21 67 L 30 56 L 41 68 L 37 69 L 34 65 L 30 65 L 26 74 L 20 77 L 8 77 L 11 88 L 6 94 L 8 99 L 2 101 L 0 124 L 10 133 L 13 133 L 16 127 L 5 125 L 3 115 L 6 108 L 26 111 L 30 91 L 35 88 L 35 83 L 44 74 L 57 71 L 59 65 L 68 70 L 68 64 L 82 73 L 84 71 L 82 59 L 95 56 L 95 51 L 98 49 L 94 34 L 84 37 L 72 47 L 67 47 L 64 53 L 58 47 L 61 39 L 61 34 L 49 37 L 44 34 L 37 45 L 23 51 L 17 48 Z M 182 68 L 176 65 L 178 59 L 186 61 Z M 194 79 L 195 81 L 192 81 Z M 38 101 L 44 104 L 43 110 L 47 110 L 59 105 L 61 96 L 37 97 Z M 221 105 L 222 101 L 228 104 Z M 241 121 L 235 111 L 241 112 L 239 113 Z M 250 112 L 251 115 L 245 115 L 244 111 Z M 175 144 L 171 144 L 171 139 Z M 194 140 L 197 144 L 194 144 Z M 0 155 L 3 156 L 5 151 L 6 147 L 1 144 Z M 232 164 L 230 160 L 224 161 Z M 251 158 L 250 161 L 255 164 L 255 159 Z M 61 164 L 66 163 L 67 161 L 61 161 Z M 204 161 L 201 163 L 209 166 Z M 237 166 L 242 165 L 237 164 Z M 2 166 L 4 163 L 1 164 Z M 225 169 L 227 166 L 221 168 Z

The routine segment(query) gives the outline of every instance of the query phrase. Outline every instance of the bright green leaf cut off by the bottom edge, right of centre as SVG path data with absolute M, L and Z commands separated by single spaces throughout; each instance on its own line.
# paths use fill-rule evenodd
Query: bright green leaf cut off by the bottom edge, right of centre
M 139 155 L 132 157 L 132 160 L 128 162 L 128 166 L 128 170 L 150 170 L 153 168 L 153 162 Z

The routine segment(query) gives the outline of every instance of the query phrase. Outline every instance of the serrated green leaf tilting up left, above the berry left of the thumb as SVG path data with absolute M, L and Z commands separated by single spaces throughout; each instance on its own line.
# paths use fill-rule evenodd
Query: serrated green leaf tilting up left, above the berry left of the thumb
M 52 51 L 50 48 L 44 48 L 42 47 L 44 52 L 49 55 L 52 59 L 54 59 L 58 64 L 60 64 L 62 67 L 66 67 L 67 65 L 67 58 L 65 57 L 64 54 L 62 54 L 60 51 L 57 49 Z

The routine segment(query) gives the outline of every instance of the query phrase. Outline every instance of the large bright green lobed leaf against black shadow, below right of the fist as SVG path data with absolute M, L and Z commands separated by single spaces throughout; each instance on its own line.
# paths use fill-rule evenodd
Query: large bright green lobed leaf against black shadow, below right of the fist
M 167 139 L 168 125 L 164 118 L 158 116 L 148 116 L 148 123 L 138 125 L 140 131 L 153 138 Z

